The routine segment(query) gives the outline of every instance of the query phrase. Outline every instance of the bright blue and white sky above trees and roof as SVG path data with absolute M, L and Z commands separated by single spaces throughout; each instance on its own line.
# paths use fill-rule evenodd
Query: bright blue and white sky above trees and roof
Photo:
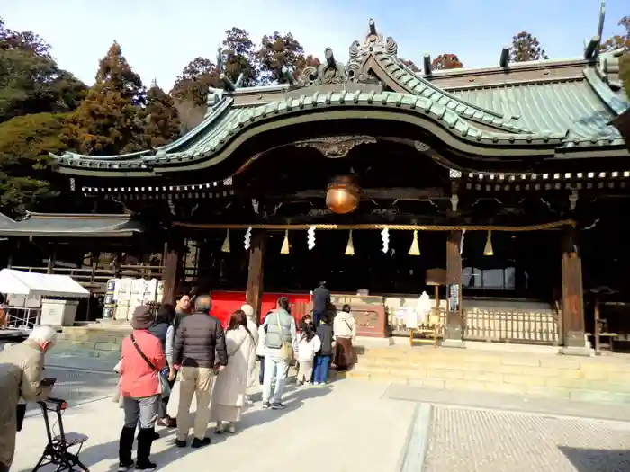
M 538 37 L 550 58 L 581 55 L 597 33 L 600 0 L 2 0 L 9 28 L 31 30 L 53 47 L 61 67 L 88 84 L 113 40 L 145 84 L 156 78 L 168 90 L 198 56 L 214 58 L 223 31 L 238 26 L 259 40 L 275 30 L 292 32 L 307 53 L 330 46 L 345 60 L 374 18 L 399 44 L 399 56 L 418 63 L 455 53 L 465 67 L 491 67 L 518 31 Z M 608 0 L 604 37 L 620 32 L 628 0 Z

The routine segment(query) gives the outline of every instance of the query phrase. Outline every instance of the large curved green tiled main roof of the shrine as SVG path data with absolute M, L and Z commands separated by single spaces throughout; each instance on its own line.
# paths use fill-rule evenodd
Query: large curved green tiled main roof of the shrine
M 262 129 L 280 126 L 279 119 L 285 119 L 282 126 L 291 126 L 298 120 L 329 117 L 408 121 L 473 155 L 527 156 L 541 150 L 553 155 L 555 150 L 565 153 L 573 148 L 624 145 L 609 123 L 629 104 L 603 80 L 598 63 L 585 67 L 580 78 L 447 92 L 405 67 L 397 49 L 395 41 L 384 40 L 373 28 L 363 45 L 356 41 L 350 47 L 346 66 L 331 58 L 328 66 L 320 66 L 321 80 L 308 79 L 302 88 L 286 88 L 281 100 L 239 106 L 235 104 L 239 91 L 216 94 L 202 123 L 165 147 L 122 156 L 66 153 L 55 157 L 62 172 L 68 174 L 152 175 L 157 169 L 166 172 L 214 165 L 238 147 L 235 142 L 240 136 L 251 137 Z M 371 64 L 370 70 L 365 70 L 367 64 Z M 320 87 L 325 84 L 326 67 L 332 67 L 341 79 L 343 86 L 336 91 Z M 361 86 L 366 76 L 396 85 L 393 88 L 398 92 L 367 92 Z M 279 88 L 257 87 L 256 93 L 264 98 L 266 90 L 277 94 Z

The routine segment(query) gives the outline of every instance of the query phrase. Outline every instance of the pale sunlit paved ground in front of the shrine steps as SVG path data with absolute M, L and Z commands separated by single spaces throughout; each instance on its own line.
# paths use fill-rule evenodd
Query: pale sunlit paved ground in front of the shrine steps
M 58 377 L 56 396 L 69 400 L 64 416 L 67 431 L 90 436 L 81 452 L 85 464 L 92 472 L 114 470 L 122 412 L 108 396 L 116 378 L 54 368 L 48 368 L 47 375 Z M 176 395 L 177 387 L 173 410 Z M 177 449 L 174 432 L 160 430 L 163 437 L 154 443 L 153 457 L 163 470 L 220 467 L 222 472 L 630 470 L 630 423 L 530 413 L 526 408 L 515 412 L 444 405 L 431 395 L 413 387 L 358 380 L 340 380 L 329 387 L 290 387 L 286 410 L 262 410 L 258 402 L 243 415 L 241 431 L 233 436 L 211 433 L 213 443 L 205 449 Z M 441 399 L 466 403 L 462 394 Z M 487 400 L 518 409 L 509 398 Z M 524 405 L 540 410 L 536 402 Z M 546 405 L 559 414 L 579 406 Z M 615 418 L 614 409 L 591 410 L 600 418 Z M 34 466 L 46 442 L 44 431 L 40 414 L 31 409 L 18 436 L 14 472 Z

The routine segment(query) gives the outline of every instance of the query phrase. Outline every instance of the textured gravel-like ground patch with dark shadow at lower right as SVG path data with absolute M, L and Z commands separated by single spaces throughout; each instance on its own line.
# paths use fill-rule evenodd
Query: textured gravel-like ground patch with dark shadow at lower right
M 425 472 L 627 472 L 630 423 L 435 407 Z

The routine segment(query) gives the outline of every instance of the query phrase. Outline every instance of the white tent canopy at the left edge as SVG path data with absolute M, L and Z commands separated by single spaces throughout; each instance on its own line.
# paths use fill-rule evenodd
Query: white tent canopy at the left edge
M 68 275 L 47 273 L 0 271 L 0 293 L 31 297 L 85 298 L 90 292 Z

